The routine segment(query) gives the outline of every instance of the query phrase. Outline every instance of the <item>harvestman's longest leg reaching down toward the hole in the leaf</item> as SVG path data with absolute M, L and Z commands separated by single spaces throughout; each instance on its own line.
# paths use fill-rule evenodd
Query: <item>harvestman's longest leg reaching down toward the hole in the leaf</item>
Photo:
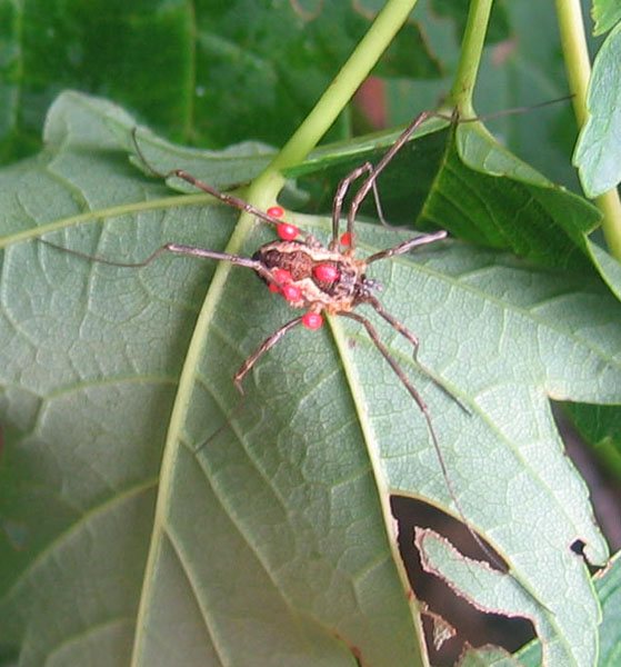
M 483 540 L 479 537 L 479 535 L 477 535 L 477 531 L 474 530 L 474 528 L 472 528 L 472 526 L 470 525 L 470 521 L 465 518 L 465 514 L 463 512 L 461 502 L 458 499 L 453 484 L 451 481 L 451 478 L 449 477 L 449 470 L 447 468 L 447 464 L 444 462 L 444 457 L 442 456 L 442 450 L 440 449 L 440 441 L 438 440 L 438 436 L 435 435 L 435 429 L 433 428 L 433 422 L 431 421 L 431 415 L 429 414 L 429 408 L 427 407 L 427 404 L 422 399 L 421 395 L 415 390 L 414 386 L 412 385 L 412 382 L 410 381 L 408 376 L 403 372 L 403 370 L 401 369 L 401 367 L 399 366 L 399 364 L 397 362 L 394 357 L 388 351 L 388 348 L 380 340 L 380 337 L 379 337 L 378 332 L 375 331 L 373 325 L 371 325 L 371 322 L 367 318 L 358 315 L 357 312 L 341 311 L 338 315 L 341 315 L 343 317 L 349 317 L 350 319 L 353 319 L 357 322 L 360 322 L 367 329 L 367 332 L 369 334 L 369 337 L 373 341 L 373 345 L 381 352 L 382 357 L 389 362 L 392 370 L 397 374 L 398 378 L 401 380 L 401 382 L 403 384 L 403 386 L 405 387 L 405 389 L 408 390 L 410 396 L 414 399 L 414 401 L 419 406 L 419 408 L 420 408 L 421 412 L 423 414 L 424 419 L 427 421 L 427 427 L 428 427 L 429 434 L 431 436 L 431 441 L 433 442 L 433 448 L 435 449 L 435 456 L 440 464 L 440 469 L 442 470 L 442 477 L 444 478 L 444 482 L 447 484 L 447 488 L 449 489 L 449 494 L 455 506 L 455 509 L 459 512 L 461 520 L 463 521 L 464 526 L 468 528 L 468 530 L 469 530 L 470 535 L 472 536 L 472 538 L 474 539 L 474 541 L 479 545 L 479 547 L 488 556 L 488 558 L 490 558 L 491 561 L 494 563 L 497 566 L 499 566 L 502 570 L 505 570 L 507 566 L 502 561 L 499 560 L 499 558 L 498 558 L 498 556 L 495 556 L 495 554 L 493 554 L 490 550 L 490 548 L 483 542 Z

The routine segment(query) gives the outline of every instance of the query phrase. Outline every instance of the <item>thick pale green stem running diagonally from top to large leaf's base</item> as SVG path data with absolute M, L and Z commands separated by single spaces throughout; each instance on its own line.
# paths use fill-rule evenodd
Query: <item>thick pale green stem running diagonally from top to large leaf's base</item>
M 291 139 L 254 181 L 248 198 L 257 206 L 273 201 L 284 179 L 281 170 L 297 165 L 317 146 L 353 93 L 389 47 L 418 0 L 389 0 L 355 47 L 341 71 L 321 96 Z

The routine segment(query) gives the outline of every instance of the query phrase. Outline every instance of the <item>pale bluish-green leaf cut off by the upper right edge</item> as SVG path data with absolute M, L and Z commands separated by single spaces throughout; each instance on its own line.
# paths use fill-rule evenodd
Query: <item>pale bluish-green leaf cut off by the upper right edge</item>
M 614 188 L 621 180 L 621 23 L 605 38 L 589 82 L 583 126 L 573 163 L 588 197 Z

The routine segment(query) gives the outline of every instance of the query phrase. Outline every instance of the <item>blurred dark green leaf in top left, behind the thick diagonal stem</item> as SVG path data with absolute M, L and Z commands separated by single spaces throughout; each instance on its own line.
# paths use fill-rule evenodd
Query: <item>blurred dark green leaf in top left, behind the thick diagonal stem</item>
M 364 36 L 374 4 L 0 0 L 0 155 L 32 152 L 64 88 L 120 100 L 177 140 L 281 143 Z M 410 21 L 378 73 L 428 78 L 439 67 Z

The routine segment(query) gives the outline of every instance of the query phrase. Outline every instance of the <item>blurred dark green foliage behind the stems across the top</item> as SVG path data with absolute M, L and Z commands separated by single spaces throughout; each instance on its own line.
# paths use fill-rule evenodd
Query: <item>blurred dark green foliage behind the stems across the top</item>
M 445 97 L 468 11 L 421 0 L 325 140 L 404 123 Z M 0 160 L 40 148 L 46 110 L 71 88 L 110 98 L 173 141 L 282 146 L 362 38 L 381 0 L 0 1 Z M 588 19 L 589 20 L 589 19 Z M 498 0 L 480 115 L 567 94 L 552 2 Z M 577 187 L 570 104 L 494 119 L 508 147 Z

